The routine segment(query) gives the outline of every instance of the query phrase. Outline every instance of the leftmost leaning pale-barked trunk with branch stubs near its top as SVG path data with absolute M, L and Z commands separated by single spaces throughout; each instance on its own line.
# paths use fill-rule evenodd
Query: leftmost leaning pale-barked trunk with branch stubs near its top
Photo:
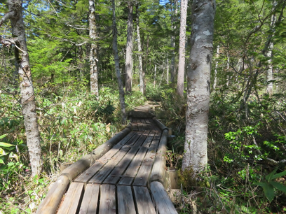
M 27 147 L 31 163 L 32 176 L 39 175 L 42 170 L 40 133 L 36 116 L 34 87 L 32 84 L 29 55 L 25 36 L 25 25 L 22 18 L 22 1 L 9 0 L 9 12 L 2 17 L 0 26 L 10 20 L 13 38 L 2 40 L 4 45 L 15 45 L 15 59 L 18 62 L 22 114 L 24 116 Z

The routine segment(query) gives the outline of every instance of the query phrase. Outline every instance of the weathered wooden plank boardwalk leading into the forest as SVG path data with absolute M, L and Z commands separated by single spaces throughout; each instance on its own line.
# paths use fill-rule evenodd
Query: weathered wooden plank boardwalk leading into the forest
M 132 131 L 72 180 L 57 213 L 177 213 L 157 179 L 161 169 L 154 166 L 162 159 L 163 130 L 151 119 L 148 106 L 132 115 Z M 152 171 L 155 179 L 150 180 Z

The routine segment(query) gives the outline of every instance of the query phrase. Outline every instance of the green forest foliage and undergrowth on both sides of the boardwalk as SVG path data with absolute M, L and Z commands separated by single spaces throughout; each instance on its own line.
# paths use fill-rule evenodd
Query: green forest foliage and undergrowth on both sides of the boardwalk
M 123 84 L 130 2 L 115 2 Z M 62 162 L 75 162 L 124 126 L 111 1 L 95 1 L 95 38 L 89 34 L 88 3 L 22 4 L 41 134 L 41 176 L 30 176 L 15 45 L 0 45 L 0 213 L 34 213 Z M 125 94 L 126 111 L 147 101 L 160 102 L 156 115 L 176 136 L 168 163 L 179 170 L 186 124 L 186 92 L 183 97 L 176 92 L 180 1 L 132 3 L 132 91 Z M 191 1 L 188 4 L 186 71 L 191 50 Z M 286 213 L 285 6 L 285 0 L 217 0 L 208 168 L 195 180 L 191 170 L 179 171 L 182 194 L 175 203 L 181 213 Z M 2 16 L 8 13 L 6 1 L 1 0 L 0 8 Z M 11 34 L 10 22 L 4 22 L 1 41 Z M 93 47 L 98 96 L 90 92 Z M 186 83 L 184 87 L 186 91 Z

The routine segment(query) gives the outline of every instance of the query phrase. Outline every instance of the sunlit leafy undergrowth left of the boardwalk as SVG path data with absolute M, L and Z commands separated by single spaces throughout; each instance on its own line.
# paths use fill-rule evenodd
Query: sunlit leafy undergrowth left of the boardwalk
M 37 89 L 38 88 L 38 89 Z M 76 162 L 123 129 L 118 90 L 90 95 L 85 81 L 35 87 L 43 172 L 30 178 L 18 90 L 0 92 L 0 213 L 34 213 L 63 162 Z M 141 106 L 140 92 L 125 96 L 126 110 Z

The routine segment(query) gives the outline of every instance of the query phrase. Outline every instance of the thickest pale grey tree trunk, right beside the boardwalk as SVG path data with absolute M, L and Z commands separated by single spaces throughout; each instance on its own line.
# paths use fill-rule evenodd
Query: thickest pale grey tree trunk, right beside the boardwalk
M 191 167 L 195 174 L 204 169 L 207 164 L 207 126 L 214 13 L 214 0 L 193 1 L 186 139 L 182 169 Z

